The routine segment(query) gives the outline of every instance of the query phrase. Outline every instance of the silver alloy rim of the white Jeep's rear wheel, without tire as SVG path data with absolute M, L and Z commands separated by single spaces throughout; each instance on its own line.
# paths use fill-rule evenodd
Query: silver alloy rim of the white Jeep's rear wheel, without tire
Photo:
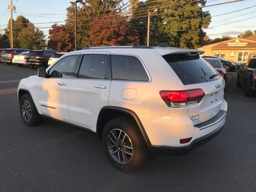
M 129 136 L 120 129 L 108 133 L 108 151 L 112 158 L 120 164 L 127 164 L 132 159 L 133 147 Z

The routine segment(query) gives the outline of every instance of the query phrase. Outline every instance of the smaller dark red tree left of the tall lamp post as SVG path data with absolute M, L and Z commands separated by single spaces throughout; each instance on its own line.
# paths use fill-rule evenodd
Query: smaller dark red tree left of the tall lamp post
M 52 25 L 49 30 L 48 47 L 62 52 L 74 50 L 74 38 L 65 25 Z

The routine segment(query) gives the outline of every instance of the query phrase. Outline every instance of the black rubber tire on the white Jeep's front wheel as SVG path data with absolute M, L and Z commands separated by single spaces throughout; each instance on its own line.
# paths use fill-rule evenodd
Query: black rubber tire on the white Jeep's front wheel
M 22 105 L 24 105 L 24 102 L 28 102 L 30 108 L 28 107 L 26 109 L 26 114 L 27 114 L 27 118 L 24 117 L 23 112 L 24 112 L 24 107 L 22 107 Z M 26 106 L 27 103 L 26 103 Z M 31 114 L 28 114 L 28 111 L 30 109 Z M 20 115 L 22 117 L 22 120 L 24 121 L 25 124 L 27 124 L 28 126 L 36 126 L 38 124 L 40 124 L 42 122 L 42 119 L 40 118 L 37 110 L 36 110 L 36 106 L 34 105 L 34 102 L 32 101 L 32 99 L 30 98 L 29 94 L 24 94 L 22 95 L 22 97 L 20 98 Z M 30 116 L 30 118 L 28 118 Z

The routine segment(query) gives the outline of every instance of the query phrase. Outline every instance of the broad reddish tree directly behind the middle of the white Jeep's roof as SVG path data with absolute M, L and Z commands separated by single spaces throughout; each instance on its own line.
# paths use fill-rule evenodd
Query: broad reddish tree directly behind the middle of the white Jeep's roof
M 139 35 L 124 16 L 110 14 L 91 22 L 90 40 L 93 46 L 138 45 Z

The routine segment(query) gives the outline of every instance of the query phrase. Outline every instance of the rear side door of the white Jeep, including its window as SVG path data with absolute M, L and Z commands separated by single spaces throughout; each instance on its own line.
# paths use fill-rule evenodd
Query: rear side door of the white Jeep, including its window
M 110 52 L 86 52 L 80 56 L 77 78 L 68 86 L 68 114 L 73 124 L 96 131 L 98 114 L 108 106 Z

